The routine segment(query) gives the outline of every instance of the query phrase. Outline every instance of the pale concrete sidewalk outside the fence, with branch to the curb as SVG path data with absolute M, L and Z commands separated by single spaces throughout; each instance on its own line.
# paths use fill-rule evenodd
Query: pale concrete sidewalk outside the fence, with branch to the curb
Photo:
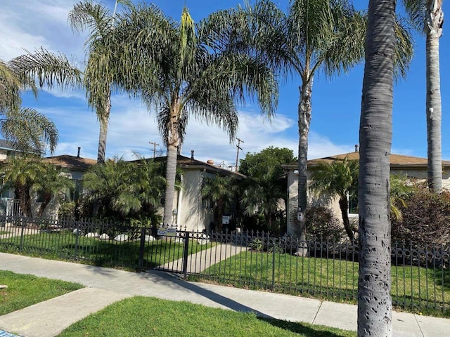
M 26 337 L 56 336 L 106 305 L 136 295 L 188 300 L 215 308 L 252 311 L 265 317 L 356 331 L 356 305 L 186 282 L 164 272 L 125 272 L 6 253 L 0 253 L 0 269 L 86 286 L 0 316 L 0 336 L 8 336 L 2 334 L 2 329 Z M 450 333 L 450 319 L 404 312 L 393 312 L 392 316 L 394 337 L 443 337 Z

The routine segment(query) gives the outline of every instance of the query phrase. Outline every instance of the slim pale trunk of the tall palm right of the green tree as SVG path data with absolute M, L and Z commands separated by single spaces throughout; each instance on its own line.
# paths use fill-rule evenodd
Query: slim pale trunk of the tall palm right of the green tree
M 298 105 L 298 210 L 301 212 L 300 219 L 297 218 L 297 237 L 300 242 L 306 240 L 305 214 L 307 210 L 307 170 L 308 170 L 308 133 L 311 124 L 311 88 L 312 77 L 304 80 L 300 86 L 300 103 Z M 304 244 L 297 249 L 297 255 L 307 255 Z

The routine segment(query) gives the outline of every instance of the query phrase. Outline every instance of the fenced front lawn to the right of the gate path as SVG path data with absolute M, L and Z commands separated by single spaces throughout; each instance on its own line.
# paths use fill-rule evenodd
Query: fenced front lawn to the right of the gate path
M 358 267 L 345 259 L 244 251 L 191 279 L 355 304 Z M 397 309 L 450 317 L 449 270 L 392 266 L 391 273 L 391 295 Z

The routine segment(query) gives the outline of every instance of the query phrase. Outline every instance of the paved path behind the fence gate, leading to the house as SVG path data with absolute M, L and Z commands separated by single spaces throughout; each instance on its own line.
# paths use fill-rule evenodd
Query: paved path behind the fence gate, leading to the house
M 199 251 L 198 253 L 188 255 L 188 261 L 186 265 L 186 272 L 198 273 L 203 272 L 203 270 L 219 263 L 220 261 L 226 260 L 231 256 L 238 255 L 242 251 L 247 251 L 249 248 L 246 246 L 240 246 L 236 244 L 217 244 L 210 249 L 205 249 L 204 251 Z M 183 270 L 183 259 L 175 260 L 165 265 L 160 265 L 160 269 L 172 270 L 175 269 L 178 272 Z

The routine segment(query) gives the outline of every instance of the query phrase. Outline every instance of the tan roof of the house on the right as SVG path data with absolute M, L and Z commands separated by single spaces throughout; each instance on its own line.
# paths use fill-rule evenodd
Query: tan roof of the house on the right
M 311 159 L 308 161 L 308 166 L 313 168 L 319 164 L 331 163 L 335 160 L 359 160 L 359 152 L 349 152 L 344 154 L 337 154 L 334 156 Z M 420 157 L 404 156 L 403 154 L 391 154 L 390 155 L 391 169 L 427 169 L 428 159 Z M 443 160 L 442 166 L 450 168 L 450 161 Z M 283 165 L 285 169 L 297 169 L 297 163 Z

